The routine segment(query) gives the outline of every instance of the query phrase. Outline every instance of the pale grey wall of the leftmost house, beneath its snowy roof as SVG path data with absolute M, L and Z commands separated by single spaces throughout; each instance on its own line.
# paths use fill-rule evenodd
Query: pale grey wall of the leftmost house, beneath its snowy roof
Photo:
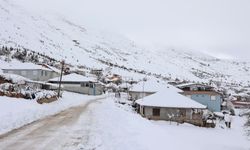
M 58 77 L 59 74 L 54 71 L 49 70 L 7 70 L 4 69 L 3 73 L 10 73 L 23 76 L 25 78 L 34 80 L 34 81 L 48 81 L 49 79 Z

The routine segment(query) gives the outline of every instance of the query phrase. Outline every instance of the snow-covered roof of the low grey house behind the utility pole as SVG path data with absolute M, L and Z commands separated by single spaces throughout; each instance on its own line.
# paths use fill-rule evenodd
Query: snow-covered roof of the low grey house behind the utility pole
M 53 79 L 50 79 L 49 81 L 59 81 L 60 77 L 56 77 Z M 86 77 L 86 76 L 82 76 L 76 73 L 72 73 L 72 74 L 68 74 L 68 75 L 64 75 L 62 76 L 62 81 L 65 82 L 96 82 L 96 78 L 93 77 Z

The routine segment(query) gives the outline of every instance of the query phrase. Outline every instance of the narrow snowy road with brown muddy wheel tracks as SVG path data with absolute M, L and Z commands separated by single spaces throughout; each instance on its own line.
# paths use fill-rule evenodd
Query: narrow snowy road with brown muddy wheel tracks
M 79 144 L 86 143 L 88 139 L 88 128 L 93 119 L 92 109 L 89 107 L 101 99 L 104 98 L 90 100 L 83 105 L 4 134 L 0 136 L 0 149 L 77 149 Z

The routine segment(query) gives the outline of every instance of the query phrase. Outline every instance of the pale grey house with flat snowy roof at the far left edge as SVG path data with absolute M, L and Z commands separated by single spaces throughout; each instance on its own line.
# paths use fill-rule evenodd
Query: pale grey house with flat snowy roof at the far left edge
M 3 73 L 16 74 L 34 81 L 48 81 L 59 76 L 59 72 L 32 63 L 18 63 L 0 66 Z

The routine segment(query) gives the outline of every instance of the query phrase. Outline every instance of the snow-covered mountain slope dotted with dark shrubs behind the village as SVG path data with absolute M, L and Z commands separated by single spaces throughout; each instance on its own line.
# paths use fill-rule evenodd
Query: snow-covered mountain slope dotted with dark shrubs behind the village
M 61 16 L 38 15 L 8 0 L 0 1 L 0 46 L 27 48 L 73 65 L 105 69 L 112 64 L 113 71 L 128 74 L 139 70 L 172 79 L 250 83 L 250 62 L 140 47 L 122 35 L 78 25 Z

